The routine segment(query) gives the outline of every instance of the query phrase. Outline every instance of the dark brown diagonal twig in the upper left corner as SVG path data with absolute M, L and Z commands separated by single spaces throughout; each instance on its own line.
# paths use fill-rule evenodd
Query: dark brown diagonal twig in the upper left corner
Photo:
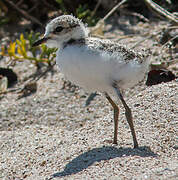
M 24 10 L 18 8 L 12 1 L 10 0 L 5 0 L 7 3 L 9 3 L 14 9 L 16 9 L 20 14 L 22 14 L 26 19 L 31 20 L 32 22 L 35 22 L 37 24 L 39 24 L 40 26 L 43 26 L 43 24 L 38 21 L 36 18 L 34 18 L 33 16 L 30 16 L 28 13 L 26 13 Z

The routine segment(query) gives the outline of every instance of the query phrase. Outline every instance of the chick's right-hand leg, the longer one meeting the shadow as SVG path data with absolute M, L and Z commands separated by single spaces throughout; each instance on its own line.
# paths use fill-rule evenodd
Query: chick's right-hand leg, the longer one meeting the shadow
M 127 122 L 130 126 L 130 129 L 131 129 L 131 133 L 132 133 L 132 137 L 133 137 L 133 142 L 134 142 L 134 148 L 137 148 L 138 147 L 138 142 L 137 142 L 137 138 L 136 138 L 136 133 L 135 133 L 135 129 L 134 129 L 134 125 L 133 125 L 133 120 L 132 120 L 132 112 L 131 112 L 131 109 L 128 107 L 128 105 L 126 104 L 119 88 L 117 86 L 113 86 L 117 95 L 119 96 L 122 104 L 124 105 L 124 108 L 125 108 L 125 116 L 126 116 L 126 119 L 127 119 Z

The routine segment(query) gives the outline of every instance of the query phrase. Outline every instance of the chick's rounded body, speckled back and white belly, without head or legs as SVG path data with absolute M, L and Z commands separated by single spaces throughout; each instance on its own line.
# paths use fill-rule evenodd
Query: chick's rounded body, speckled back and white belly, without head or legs
M 57 64 L 68 80 L 87 91 L 116 96 L 111 84 L 121 89 L 141 81 L 147 58 L 109 40 L 85 38 L 68 41 L 57 52 Z

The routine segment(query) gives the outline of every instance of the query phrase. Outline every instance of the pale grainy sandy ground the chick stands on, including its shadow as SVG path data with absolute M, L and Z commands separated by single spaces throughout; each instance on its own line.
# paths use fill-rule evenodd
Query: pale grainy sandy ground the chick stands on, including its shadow
M 27 62 L 14 67 L 20 79 L 34 69 Z M 37 82 L 36 93 L 0 97 L 0 179 L 178 179 L 176 80 L 151 87 L 141 83 L 125 92 L 140 146 L 133 149 L 123 107 L 118 145 L 113 145 L 107 100 L 99 94 L 85 107 L 89 94 L 62 89 L 62 75 L 54 70 Z

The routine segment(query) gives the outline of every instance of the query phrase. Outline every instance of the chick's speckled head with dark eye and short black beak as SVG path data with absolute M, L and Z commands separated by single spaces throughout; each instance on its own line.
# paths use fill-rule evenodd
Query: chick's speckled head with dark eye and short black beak
M 50 21 L 42 39 L 36 41 L 33 46 L 46 43 L 48 47 L 61 48 L 71 39 L 77 40 L 88 36 L 85 25 L 72 15 L 59 16 Z

